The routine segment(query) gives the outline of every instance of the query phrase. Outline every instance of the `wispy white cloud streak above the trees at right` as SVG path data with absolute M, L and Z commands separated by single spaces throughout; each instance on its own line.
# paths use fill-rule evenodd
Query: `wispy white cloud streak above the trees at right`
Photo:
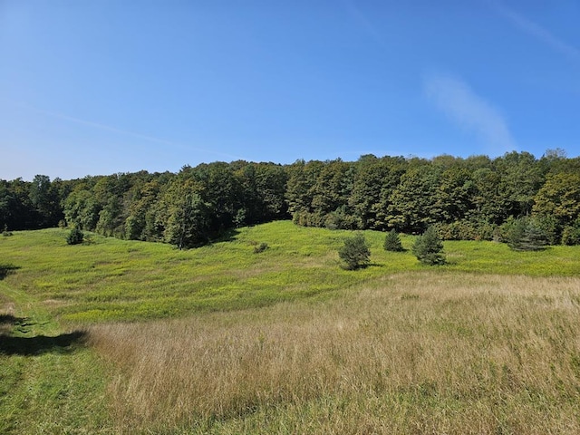
M 445 75 L 425 80 L 425 93 L 451 121 L 475 133 L 488 152 L 501 154 L 516 150 L 507 121 L 498 109 L 473 92 L 466 82 Z

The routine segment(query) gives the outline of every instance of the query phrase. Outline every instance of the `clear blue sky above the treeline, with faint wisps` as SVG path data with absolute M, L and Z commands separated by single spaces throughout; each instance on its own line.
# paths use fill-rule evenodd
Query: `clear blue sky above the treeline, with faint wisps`
M 580 155 L 580 2 L 0 0 L 0 179 Z

